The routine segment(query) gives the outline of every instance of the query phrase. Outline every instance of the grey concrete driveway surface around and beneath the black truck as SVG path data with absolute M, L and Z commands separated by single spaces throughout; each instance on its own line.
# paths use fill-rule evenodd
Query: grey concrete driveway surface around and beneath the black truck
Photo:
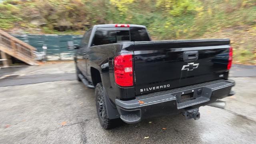
M 199 120 L 183 116 L 151 118 L 138 124 L 119 123 L 112 130 L 103 130 L 98 122 L 94 90 L 74 80 L 56 79 L 63 67 L 74 76 L 72 63 L 51 66 L 36 75 L 26 73 L 13 79 L 0 80 L 20 85 L 0 87 L 0 143 L 248 143 L 256 141 L 256 78 L 236 77 L 236 95 L 224 98 L 227 109 L 200 107 Z M 36 68 L 36 67 L 31 67 Z M 251 68 L 256 71 L 255 68 Z M 73 69 L 74 70 L 74 69 Z M 240 69 L 238 71 L 243 71 Z M 38 70 L 40 71 L 40 70 Z M 250 70 L 249 70 L 250 71 Z M 31 71 L 35 72 L 35 71 Z M 235 72 L 234 72 L 235 73 Z M 253 72 L 252 72 L 253 73 Z M 52 76 L 52 74 L 55 74 Z M 59 75 L 58 75 L 59 74 Z M 255 74 L 255 73 L 254 73 Z M 42 76 L 44 75 L 44 77 Z M 34 76 L 29 78 L 29 76 Z M 52 76 L 51 82 L 43 78 Z M 66 78 L 66 79 L 65 79 Z M 28 82 L 31 80 L 31 84 Z M 24 81 L 24 82 L 23 82 Z M 162 128 L 166 128 L 163 130 Z M 144 137 L 149 137 L 144 139 Z

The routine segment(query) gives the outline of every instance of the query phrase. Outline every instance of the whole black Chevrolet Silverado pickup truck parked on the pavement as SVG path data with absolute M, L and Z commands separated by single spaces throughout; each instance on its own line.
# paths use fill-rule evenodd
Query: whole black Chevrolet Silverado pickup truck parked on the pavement
M 78 81 L 95 88 L 100 124 L 166 114 L 200 118 L 199 107 L 234 95 L 229 39 L 151 41 L 145 26 L 102 24 L 74 46 Z M 218 106 L 216 106 L 218 107 Z

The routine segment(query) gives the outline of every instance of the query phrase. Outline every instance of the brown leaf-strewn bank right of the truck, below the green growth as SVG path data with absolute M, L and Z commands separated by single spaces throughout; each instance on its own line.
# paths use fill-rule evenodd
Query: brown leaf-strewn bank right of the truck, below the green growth
M 256 64 L 256 26 L 236 26 L 200 38 L 230 38 L 233 47 L 233 63 Z

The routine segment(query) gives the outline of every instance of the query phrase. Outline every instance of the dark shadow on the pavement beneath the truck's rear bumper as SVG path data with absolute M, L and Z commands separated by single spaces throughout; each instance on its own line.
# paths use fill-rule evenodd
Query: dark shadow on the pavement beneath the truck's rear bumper
M 182 115 L 176 116 L 161 116 L 158 118 L 150 118 L 143 120 L 138 124 L 126 124 L 119 121 L 119 125 L 112 129 L 107 130 L 108 136 L 118 135 L 121 139 L 127 140 L 127 142 L 134 141 L 136 139 L 144 139 L 149 137 L 150 140 L 157 142 L 166 142 L 166 138 L 169 140 L 182 140 L 184 137 L 195 142 L 202 142 L 200 139 L 200 133 L 195 133 L 197 127 L 197 121 L 185 120 Z M 145 139 L 145 142 L 147 140 Z M 183 142 L 183 141 L 180 141 Z

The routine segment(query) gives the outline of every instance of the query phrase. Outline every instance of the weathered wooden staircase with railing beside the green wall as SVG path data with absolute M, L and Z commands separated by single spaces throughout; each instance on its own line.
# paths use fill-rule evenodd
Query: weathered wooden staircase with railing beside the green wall
M 29 65 L 37 65 L 36 48 L 0 30 L 0 51 L 4 66 L 8 66 L 8 55 L 13 56 Z

